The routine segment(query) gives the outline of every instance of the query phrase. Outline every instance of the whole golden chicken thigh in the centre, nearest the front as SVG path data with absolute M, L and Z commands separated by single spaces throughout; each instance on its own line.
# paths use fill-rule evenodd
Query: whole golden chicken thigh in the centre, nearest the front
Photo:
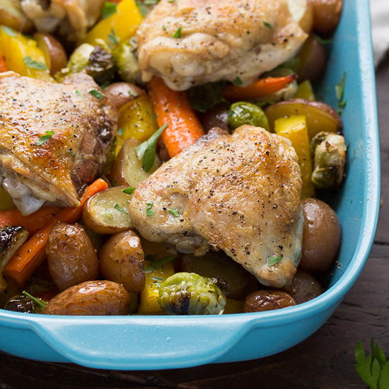
M 220 248 L 281 287 L 301 255 L 301 185 L 287 139 L 260 127 L 212 129 L 137 186 L 129 213 L 148 240 L 196 255 Z

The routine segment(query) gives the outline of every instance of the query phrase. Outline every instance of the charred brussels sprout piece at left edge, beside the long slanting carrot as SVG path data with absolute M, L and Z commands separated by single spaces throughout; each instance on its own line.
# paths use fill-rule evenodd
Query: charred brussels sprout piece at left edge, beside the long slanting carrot
M 28 231 L 21 226 L 0 228 L 0 292 L 5 291 L 7 287 L 3 277 L 4 267 L 27 238 Z

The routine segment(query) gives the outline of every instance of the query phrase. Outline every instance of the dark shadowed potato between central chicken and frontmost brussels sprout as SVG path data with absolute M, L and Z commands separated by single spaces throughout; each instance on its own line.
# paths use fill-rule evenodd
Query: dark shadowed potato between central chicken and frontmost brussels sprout
M 224 294 L 236 300 L 245 298 L 258 287 L 252 275 L 223 252 L 209 252 L 203 257 L 184 255 L 181 258 L 180 271 L 222 279 L 226 283 Z

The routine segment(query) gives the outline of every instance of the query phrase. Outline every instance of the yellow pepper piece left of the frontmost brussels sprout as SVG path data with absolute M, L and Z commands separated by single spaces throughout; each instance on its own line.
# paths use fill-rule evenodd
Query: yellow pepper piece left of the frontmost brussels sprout
M 158 305 L 159 286 L 162 281 L 174 274 L 174 269 L 171 262 L 168 262 L 159 269 L 148 269 L 150 262 L 146 261 L 144 265 L 145 283 L 144 289 L 141 292 L 141 303 L 138 313 L 140 315 L 156 315 L 162 313 L 161 307 Z

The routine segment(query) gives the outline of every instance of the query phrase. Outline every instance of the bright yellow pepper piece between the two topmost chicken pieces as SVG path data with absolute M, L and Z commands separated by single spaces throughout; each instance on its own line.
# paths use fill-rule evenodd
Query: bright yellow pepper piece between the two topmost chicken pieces
M 98 22 L 83 42 L 95 46 L 96 39 L 102 39 L 108 45 L 116 46 L 117 43 L 132 37 L 142 21 L 143 18 L 135 1 L 122 0 L 117 4 L 116 12 Z

